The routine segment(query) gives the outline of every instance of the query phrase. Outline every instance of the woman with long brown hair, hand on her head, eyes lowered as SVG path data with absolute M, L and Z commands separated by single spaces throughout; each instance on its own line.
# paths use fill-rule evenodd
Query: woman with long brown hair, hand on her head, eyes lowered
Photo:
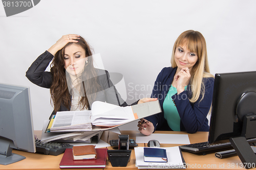
M 29 67 L 26 77 L 50 88 L 56 111 L 90 110 L 94 101 L 127 106 L 110 81 L 109 72 L 93 65 L 92 51 L 81 36 L 63 35 Z M 52 61 L 50 72 L 45 71 Z

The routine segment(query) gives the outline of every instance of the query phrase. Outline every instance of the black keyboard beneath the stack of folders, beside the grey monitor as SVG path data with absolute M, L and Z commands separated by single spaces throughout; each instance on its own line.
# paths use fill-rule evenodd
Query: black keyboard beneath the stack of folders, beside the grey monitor
M 42 143 L 35 139 L 36 152 L 44 153 L 45 155 L 59 155 L 65 152 L 67 148 L 73 148 L 73 145 L 60 142 L 46 142 Z

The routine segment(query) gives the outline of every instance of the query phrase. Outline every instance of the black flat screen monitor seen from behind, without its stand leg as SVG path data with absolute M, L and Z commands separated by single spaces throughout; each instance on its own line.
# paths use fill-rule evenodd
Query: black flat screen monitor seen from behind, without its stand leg
M 239 110 L 241 97 L 248 92 L 252 94 L 252 99 L 244 103 Z M 256 94 L 256 71 L 215 75 L 208 143 L 242 135 L 242 116 L 249 112 L 256 114 L 254 94 Z M 238 112 L 241 112 L 241 109 L 242 113 L 239 114 L 242 116 L 239 116 Z M 246 136 L 247 139 L 255 137 L 256 130 L 254 135 Z

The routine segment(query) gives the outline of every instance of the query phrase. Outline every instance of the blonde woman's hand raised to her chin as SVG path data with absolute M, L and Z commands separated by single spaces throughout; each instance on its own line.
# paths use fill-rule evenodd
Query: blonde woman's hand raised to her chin
M 190 81 L 190 72 L 188 67 L 182 68 L 178 74 L 175 75 L 174 79 L 176 82 L 177 93 L 179 94 L 185 90 L 185 86 L 187 86 Z

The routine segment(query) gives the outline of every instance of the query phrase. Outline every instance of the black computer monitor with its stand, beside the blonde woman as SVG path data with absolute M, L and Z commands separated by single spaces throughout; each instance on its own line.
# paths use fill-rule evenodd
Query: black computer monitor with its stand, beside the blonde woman
M 216 74 L 208 143 L 230 139 L 240 157 L 238 152 L 248 149 L 240 146 L 249 146 L 246 139 L 256 138 L 255 118 L 256 71 Z M 251 157 L 255 165 L 255 154 L 251 154 Z

